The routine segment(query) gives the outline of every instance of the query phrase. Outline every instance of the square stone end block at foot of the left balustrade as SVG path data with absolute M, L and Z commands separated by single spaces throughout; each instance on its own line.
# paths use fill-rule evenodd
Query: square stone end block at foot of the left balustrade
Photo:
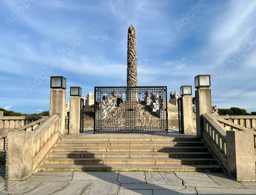
M 8 180 L 23 180 L 32 175 L 34 132 L 9 132 Z

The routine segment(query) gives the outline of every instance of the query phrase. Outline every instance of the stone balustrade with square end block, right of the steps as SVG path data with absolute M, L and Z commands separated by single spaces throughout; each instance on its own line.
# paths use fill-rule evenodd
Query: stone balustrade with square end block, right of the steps
M 228 175 L 254 181 L 256 132 L 211 114 L 203 114 L 202 120 L 202 138 Z

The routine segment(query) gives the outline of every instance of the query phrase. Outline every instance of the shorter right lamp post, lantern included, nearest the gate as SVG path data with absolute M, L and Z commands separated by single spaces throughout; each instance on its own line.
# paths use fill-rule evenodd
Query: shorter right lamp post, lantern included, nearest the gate
M 194 134 L 192 86 L 183 85 L 180 88 L 181 95 L 181 122 L 182 134 Z

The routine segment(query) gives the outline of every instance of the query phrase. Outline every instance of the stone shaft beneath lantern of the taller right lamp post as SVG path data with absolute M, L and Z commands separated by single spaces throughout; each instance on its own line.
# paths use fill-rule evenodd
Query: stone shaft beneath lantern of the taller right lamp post
M 197 88 L 196 90 L 196 117 L 197 137 L 202 137 L 202 114 L 211 114 L 211 90 L 209 88 Z

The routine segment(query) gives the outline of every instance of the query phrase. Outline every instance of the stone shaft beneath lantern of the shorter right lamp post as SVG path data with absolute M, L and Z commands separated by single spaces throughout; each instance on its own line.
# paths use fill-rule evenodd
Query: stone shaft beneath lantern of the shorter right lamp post
M 189 95 L 184 95 L 182 98 L 182 123 L 184 134 L 195 134 L 194 130 L 194 119 L 193 119 L 193 105 L 192 97 Z

